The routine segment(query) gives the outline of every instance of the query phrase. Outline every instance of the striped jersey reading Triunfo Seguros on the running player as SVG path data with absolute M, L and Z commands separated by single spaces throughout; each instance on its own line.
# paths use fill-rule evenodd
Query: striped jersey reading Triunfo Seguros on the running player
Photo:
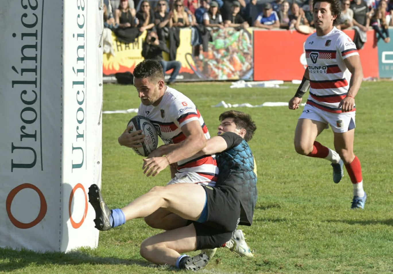
M 344 59 L 359 55 L 354 42 L 333 27 L 327 35 L 310 35 L 304 47 L 310 73 L 310 95 L 307 104 L 321 110 L 341 113 L 338 105 L 347 95 L 351 80 L 351 72 L 345 66 Z M 352 111 L 355 110 L 353 108 Z

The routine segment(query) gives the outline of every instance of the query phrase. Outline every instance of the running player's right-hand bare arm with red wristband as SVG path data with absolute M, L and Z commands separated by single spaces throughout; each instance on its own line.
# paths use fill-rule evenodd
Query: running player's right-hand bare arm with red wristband
M 359 55 L 352 55 L 344 59 L 344 63 L 352 73 L 351 81 L 349 82 L 349 89 L 347 96 L 341 100 L 339 108 L 343 112 L 353 110 L 355 104 L 355 96 L 359 91 L 360 85 L 363 81 L 363 68 L 360 62 Z

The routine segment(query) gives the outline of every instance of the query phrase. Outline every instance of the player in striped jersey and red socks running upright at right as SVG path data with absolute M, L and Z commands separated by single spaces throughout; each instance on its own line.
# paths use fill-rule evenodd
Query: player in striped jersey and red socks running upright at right
M 312 4 L 316 33 L 305 42 L 308 67 L 303 80 L 290 99 L 291 110 L 299 108 L 310 87 L 310 95 L 296 126 L 294 145 L 301 155 L 324 158 L 333 166 L 333 181 L 343 177 L 343 164 L 353 185 L 351 208 L 364 208 L 362 168 L 353 152 L 355 132 L 355 97 L 363 79 L 362 64 L 356 46 L 338 30 L 339 0 L 314 0 Z M 315 141 L 329 125 L 334 134 L 334 150 Z

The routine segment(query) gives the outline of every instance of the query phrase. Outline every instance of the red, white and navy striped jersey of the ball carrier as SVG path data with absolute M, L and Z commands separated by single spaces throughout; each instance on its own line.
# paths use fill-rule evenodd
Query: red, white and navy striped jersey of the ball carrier
M 140 104 L 138 115 L 147 117 L 154 124 L 158 135 L 165 144 L 177 144 L 186 136 L 181 128 L 191 121 L 199 121 L 206 139 L 210 138 L 208 128 L 195 104 L 173 88 L 167 87 L 158 106 Z M 178 172 L 196 172 L 210 181 L 217 181 L 219 173 L 215 155 L 190 157 L 179 161 Z

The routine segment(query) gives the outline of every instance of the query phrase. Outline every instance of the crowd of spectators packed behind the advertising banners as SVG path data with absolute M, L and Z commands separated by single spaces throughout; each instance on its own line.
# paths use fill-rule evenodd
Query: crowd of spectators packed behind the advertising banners
M 108 9 L 108 4 L 112 10 Z M 104 0 L 104 26 L 120 42 L 130 43 L 144 31 L 154 32 L 167 43 L 170 60 L 176 59 L 179 29 L 193 28 L 196 44 L 211 41 L 211 31 L 233 27 L 237 30 L 289 29 L 310 34 L 315 31 L 312 0 Z M 354 43 L 361 49 L 365 32 L 375 30 L 375 40 L 389 42 L 393 26 L 393 0 L 342 0 L 339 29 L 354 29 Z

